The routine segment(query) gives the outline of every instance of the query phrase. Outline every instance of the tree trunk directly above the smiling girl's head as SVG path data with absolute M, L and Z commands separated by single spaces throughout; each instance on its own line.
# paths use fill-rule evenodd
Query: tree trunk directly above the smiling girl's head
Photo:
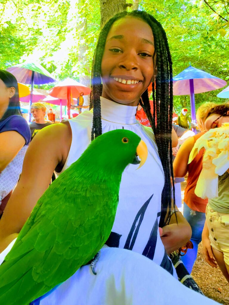
M 128 6 L 132 4 L 126 3 L 126 0 L 100 0 L 100 28 L 115 14 L 126 11 Z

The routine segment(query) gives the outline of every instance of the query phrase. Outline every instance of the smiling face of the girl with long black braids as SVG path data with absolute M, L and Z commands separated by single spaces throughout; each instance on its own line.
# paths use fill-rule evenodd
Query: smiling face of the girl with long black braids
M 144 21 L 125 17 L 107 35 L 101 64 L 102 96 L 137 106 L 155 73 L 154 37 Z

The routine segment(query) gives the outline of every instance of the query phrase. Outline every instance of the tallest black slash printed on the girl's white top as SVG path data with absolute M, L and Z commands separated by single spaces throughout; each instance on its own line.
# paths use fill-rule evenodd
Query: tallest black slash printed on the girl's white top
M 141 223 L 143 221 L 143 218 L 144 218 L 144 215 L 145 215 L 145 211 L 146 211 L 147 206 L 150 203 L 150 200 L 152 199 L 153 196 L 154 196 L 154 194 L 152 196 L 150 196 L 150 198 L 144 203 L 144 205 L 138 211 L 138 213 L 137 213 L 137 215 L 134 219 L 134 222 L 132 224 L 132 227 L 129 231 L 129 234 L 127 236 L 124 249 L 128 249 L 128 250 L 133 249 L 134 243 L 135 243 L 137 235 L 138 235 L 140 225 L 141 225 Z M 136 226 L 136 224 L 137 224 L 137 226 Z

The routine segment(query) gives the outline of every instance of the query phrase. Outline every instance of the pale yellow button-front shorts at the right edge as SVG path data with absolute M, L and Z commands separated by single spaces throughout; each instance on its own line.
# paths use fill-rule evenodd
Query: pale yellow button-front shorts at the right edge
M 229 265 L 229 213 L 217 212 L 207 205 L 206 222 L 212 248 L 223 252 L 224 262 Z

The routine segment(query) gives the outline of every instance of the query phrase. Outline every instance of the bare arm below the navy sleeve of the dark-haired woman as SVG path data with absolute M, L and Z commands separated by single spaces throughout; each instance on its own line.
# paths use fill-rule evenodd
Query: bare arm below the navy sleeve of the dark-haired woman
M 25 145 L 25 139 L 17 131 L 4 131 L 0 133 L 0 143 L 1 173 Z

